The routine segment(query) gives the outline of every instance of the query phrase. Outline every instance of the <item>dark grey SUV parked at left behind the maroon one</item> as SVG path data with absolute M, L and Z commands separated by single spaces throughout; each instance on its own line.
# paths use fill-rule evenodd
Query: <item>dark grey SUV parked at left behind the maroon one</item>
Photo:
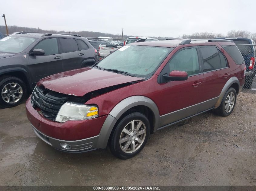
M 97 50 L 78 34 L 18 32 L 0 40 L 0 107 L 21 103 L 49 75 L 93 65 Z

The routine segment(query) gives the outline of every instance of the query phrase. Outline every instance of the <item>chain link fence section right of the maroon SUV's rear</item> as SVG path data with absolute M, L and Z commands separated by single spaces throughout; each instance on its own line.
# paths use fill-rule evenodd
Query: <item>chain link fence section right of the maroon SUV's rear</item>
M 256 64 L 255 64 L 255 56 L 256 56 L 256 45 L 250 44 L 236 44 L 238 49 L 240 50 L 245 66 L 245 82 L 244 88 L 242 92 L 256 94 Z

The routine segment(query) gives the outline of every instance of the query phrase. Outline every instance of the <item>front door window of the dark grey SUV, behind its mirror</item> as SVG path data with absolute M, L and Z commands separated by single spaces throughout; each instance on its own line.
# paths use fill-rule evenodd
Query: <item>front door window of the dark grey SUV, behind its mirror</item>
M 58 54 L 58 41 L 57 38 L 48 38 L 39 42 L 33 49 L 42 49 L 45 51 L 45 56 Z

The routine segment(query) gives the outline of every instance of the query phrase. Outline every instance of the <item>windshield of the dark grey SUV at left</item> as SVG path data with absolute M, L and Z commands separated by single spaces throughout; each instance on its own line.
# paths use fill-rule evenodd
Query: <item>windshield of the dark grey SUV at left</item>
M 5 37 L 0 39 L 0 52 L 4 53 L 20 53 L 35 41 L 30 37 Z

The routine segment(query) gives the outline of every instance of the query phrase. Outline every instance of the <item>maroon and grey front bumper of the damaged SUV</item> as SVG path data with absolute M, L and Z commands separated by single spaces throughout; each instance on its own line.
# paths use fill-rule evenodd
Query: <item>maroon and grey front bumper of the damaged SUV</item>
M 33 126 L 34 132 L 44 142 L 52 147 L 66 152 L 85 152 L 96 148 L 105 148 L 102 141 L 98 141 L 100 131 L 105 123 L 106 116 L 86 120 L 70 120 L 58 123 L 46 119 L 32 107 L 31 100 L 26 102 L 28 120 Z M 101 138 L 104 134 L 101 135 Z M 70 148 L 61 147 L 60 143 L 66 143 Z

